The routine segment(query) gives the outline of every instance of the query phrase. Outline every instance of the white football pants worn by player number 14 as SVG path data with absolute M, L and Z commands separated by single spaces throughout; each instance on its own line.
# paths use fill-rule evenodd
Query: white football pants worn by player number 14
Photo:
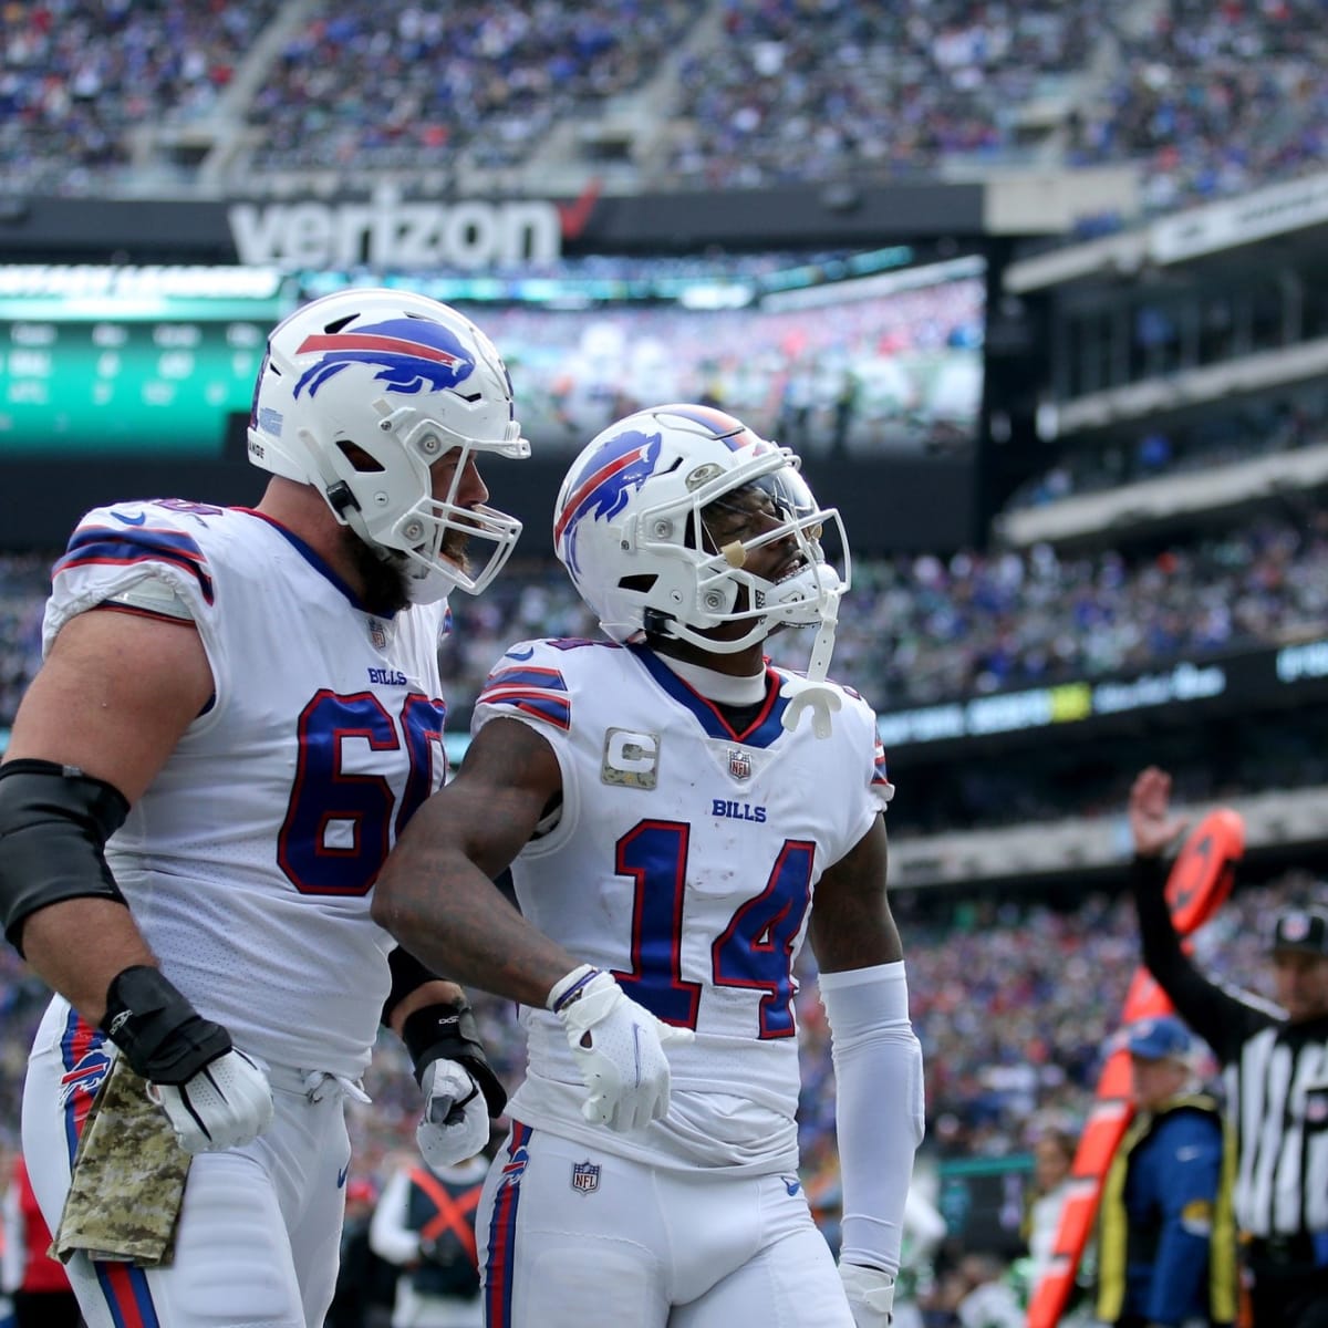
M 514 1122 L 475 1230 L 487 1328 L 853 1328 L 793 1175 L 656 1170 Z

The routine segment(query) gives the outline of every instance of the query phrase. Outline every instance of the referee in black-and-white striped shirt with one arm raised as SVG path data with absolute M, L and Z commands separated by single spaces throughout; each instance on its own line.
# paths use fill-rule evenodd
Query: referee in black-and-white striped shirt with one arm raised
M 1328 1328 L 1328 910 L 1279 914 L 1278 1005 L 1208 981 L 1181 950 L 1163 898 L 1162 854 L 1185 829 L 1170 798 L 1171 778 L 1155 766 L 1130 790 L 1143 963 L 1223 1066 L 1254 1328 Z

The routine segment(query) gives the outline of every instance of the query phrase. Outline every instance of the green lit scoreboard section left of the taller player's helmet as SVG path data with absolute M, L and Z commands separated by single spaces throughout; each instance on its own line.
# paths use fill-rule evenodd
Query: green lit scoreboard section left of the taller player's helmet
M 0 274 L 0 459 L 214 459 L 227 417 L 248 412 L 267 333 L 293 307 L 280 279 L 109 271 L 121 275 L 73 290 L 68 275 L 42 290 Z

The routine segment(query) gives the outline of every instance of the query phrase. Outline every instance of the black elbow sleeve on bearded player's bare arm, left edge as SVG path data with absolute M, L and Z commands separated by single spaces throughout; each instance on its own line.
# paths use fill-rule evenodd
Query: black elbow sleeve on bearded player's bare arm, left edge
M 39 908 L 80 896 L 124 903 L 105 849 L 127 815 L 118 789 L 74 766 L 0 765 L 0 920 L 20 955 L 23 924 Z

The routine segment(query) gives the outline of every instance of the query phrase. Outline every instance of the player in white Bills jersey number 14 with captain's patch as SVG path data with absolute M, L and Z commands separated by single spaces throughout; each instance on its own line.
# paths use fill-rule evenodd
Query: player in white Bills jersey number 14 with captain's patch
M 922 1054 L 875 717 L 825 680 L 839 517 L 788 449 L 665 405 L 578 457 L 554 538 L 608 639 L 507 651 L 373 904 L 523 1007 L 479 1211 L 489 1328 L 883 1328 Z M 764 657 L 784 625 L 817 631 L 806 675 Z M 489 884 L 509 863 L 521 914 Z M 834 1036 L 838 1276 L 798 1185 L 805 939 Z

